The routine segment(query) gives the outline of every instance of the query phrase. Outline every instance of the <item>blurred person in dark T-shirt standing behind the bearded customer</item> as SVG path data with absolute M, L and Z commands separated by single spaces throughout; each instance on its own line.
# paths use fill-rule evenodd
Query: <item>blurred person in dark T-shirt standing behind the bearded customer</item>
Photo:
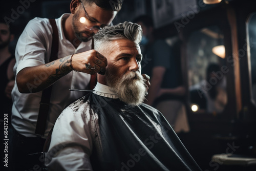
M 138 16 L 134 23 L 141 25 L 143 30 L 140 44 L 143 54 L 142 72 L 151 77 L 151 87 L 144 103 L 158 109 L 176 132 L 187 132 L 189 127 L 183 103 L 185 87 L 181 82 L 180 63 L 176 60 L 179 56 L 174 55 L 172 47 L 164 39 L 155 37 L 154 23 L 150 16 Z

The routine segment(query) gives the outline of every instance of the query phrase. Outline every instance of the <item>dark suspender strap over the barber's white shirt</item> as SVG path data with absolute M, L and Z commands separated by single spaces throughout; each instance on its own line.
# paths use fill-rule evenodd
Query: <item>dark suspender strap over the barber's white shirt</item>
M 58 48 L 59 48 L 59 36 L 58 29 L 55 22 L 55 19 L 49 19 L 50 24 L 52 26 L 52 48 L 51 48 L 51 56 L 49 61 L 56 60 L 58 58 Z M 49 113 L 50 107 L 50 99 L 51 99 L 52 86 L 42 91 L 40 108 L 38 112 L 38 118 L 36 123 L 35 135 L 44 136 L 46 130 L 46 121 Z

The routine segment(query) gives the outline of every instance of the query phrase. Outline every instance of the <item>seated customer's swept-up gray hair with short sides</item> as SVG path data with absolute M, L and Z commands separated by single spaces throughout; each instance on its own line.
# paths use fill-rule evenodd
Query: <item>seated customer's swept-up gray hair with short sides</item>
M 94 36 L 95 50 L 105 47 L 105 44 L 112 40 L 129 39 L 139 44 L 142 37 L 141 26 L 132 23 L 124 22 L 115 26 L 106 26 L 102 30 L 99 30 Z

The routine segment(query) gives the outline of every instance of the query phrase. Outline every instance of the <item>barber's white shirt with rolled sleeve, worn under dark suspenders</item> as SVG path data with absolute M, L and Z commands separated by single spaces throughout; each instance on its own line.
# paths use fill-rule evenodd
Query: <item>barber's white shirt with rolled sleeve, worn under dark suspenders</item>
M 80 53 L 91 50 L 92 40 L 81 42 L 75 48 L 73 44 L 66 39 L 62 30 L 62 20 L 70 14 L 63 14 L 55 19 L 59 35 L 58 58 L 62 58 L 73 53 Z M 16 51 L 16 64 L 14 73 L 26 68 L 38 66 L 49 62 L 52 46 L 52 27 L 47 18 L 34 18 L 30 20 L 23 33 L 20 35 Z M 41 73 L 39 77 L 35 76 L 34 84 L 27 84 L 31 89 L 40 84 L 40 77 L 49 76 L 47 71 Z M 48 135 L 59 114 L 67 104 L 75 99 L 82 97 L 81 92 L 71 92 L 69 89 L 86 89 L 91 75 L 72 71 L 66 76 L 60 78 L 53 84 L 50 111 L 47 120 L 47 129 L 45 137 Z M 38 117 L 39 102 L 41 100 L 41 91 L 38 93 L 21 94 L 18 91 L 17 84 L 12 91 L 12 125 L 14 129 L 26 136 L 35 137 L 35 127 Z

